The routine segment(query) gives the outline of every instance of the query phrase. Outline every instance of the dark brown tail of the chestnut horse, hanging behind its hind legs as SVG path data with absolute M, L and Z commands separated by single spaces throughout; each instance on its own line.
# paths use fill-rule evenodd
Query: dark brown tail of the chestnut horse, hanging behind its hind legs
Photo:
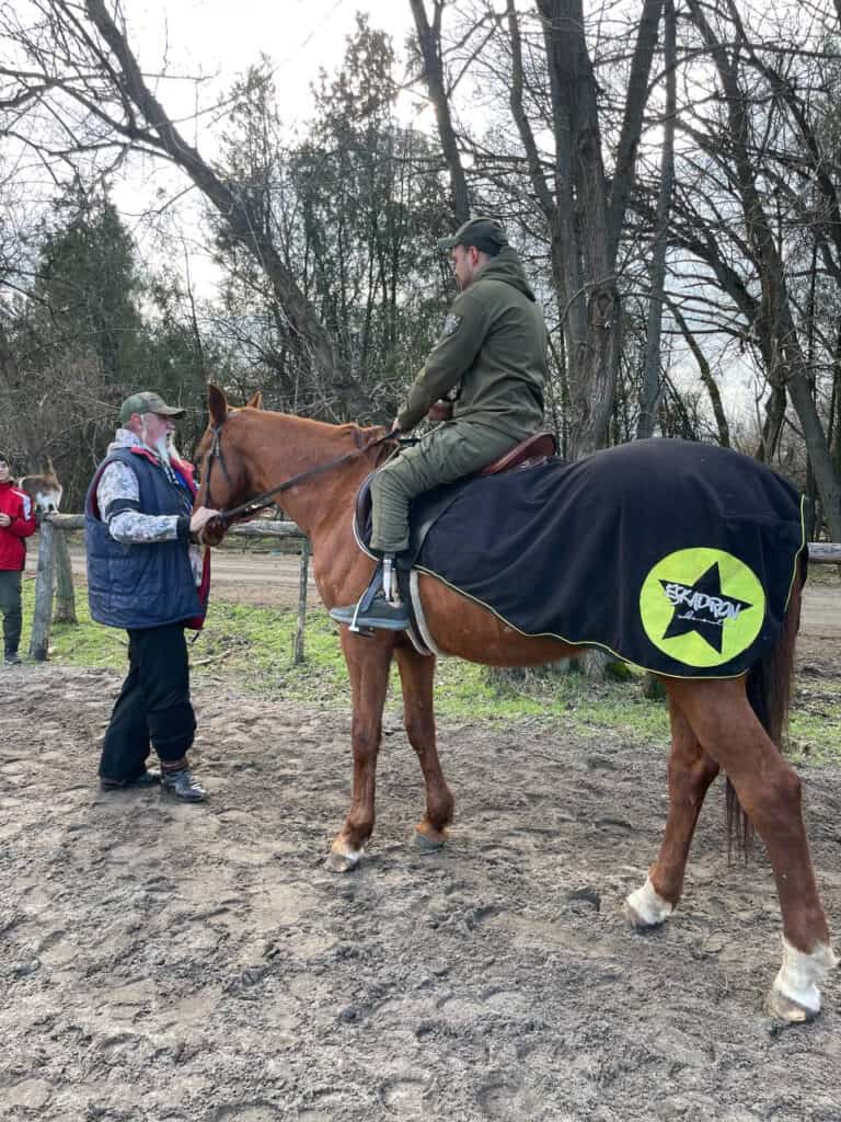
M 794 647 L 801 626 L 802 589 L 806 581 L 806 558 L 801 554 L 797 571 L 777 642 L 748 672 L 746 683 L 748 701 L 763 728 L 783 751 L 783 738 L 788 727 L 788 705 L 794 677 Z M 727 781 L 728 854 L 733 844 L 747 861 L 754 840 L 754 827 L 739 803 L 736 788 Z

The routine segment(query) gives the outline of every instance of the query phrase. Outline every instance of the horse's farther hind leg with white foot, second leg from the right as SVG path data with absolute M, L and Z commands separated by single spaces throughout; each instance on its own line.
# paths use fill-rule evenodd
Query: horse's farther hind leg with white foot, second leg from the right
M 666 829 L 659 855 L 645 884 L 631 892 L 625 902 L 626 916 L 639 930 L 658 927 L 677 907 L 697 817 L 708 788 L 719 773 L 719 765 L 701 746 L 671 696 L 668 715 L 672 753 Z

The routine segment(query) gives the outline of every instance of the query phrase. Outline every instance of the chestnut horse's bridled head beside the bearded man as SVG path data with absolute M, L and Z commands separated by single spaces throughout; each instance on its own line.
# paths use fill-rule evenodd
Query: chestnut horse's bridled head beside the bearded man
M 258 390 L 244 410 L 261 410 L 262 394 Z M 195 453 L 201 480 L 196 506 L 230 511 L 256 494 L 247 457 L 241 452 L 238 436 L 238 415 L 243 410 L 228 404 L 224 390 L 212 383 L 207 386 L 207 427 Z M 214 518 L 202 532 L 207 545 L 218 545 L 224 537 L 228 523 Z

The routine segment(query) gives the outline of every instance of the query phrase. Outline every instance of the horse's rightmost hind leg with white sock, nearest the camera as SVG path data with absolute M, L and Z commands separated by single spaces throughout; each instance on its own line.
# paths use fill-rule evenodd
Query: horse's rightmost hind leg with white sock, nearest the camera
M 669 692 L 727 772 L 774 871 L 783 913 L 783 965 L 766 1008 L 783 1021 L 811 1021 L 821 1010 L 820 983 L 838 959 L 817 894 L 800 778 L 750 707 L 743 679 L 674 681 Z

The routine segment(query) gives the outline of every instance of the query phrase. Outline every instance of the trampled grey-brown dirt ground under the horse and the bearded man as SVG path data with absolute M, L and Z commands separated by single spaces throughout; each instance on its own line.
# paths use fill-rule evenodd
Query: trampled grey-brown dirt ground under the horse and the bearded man
M 823 626 L 802 645 L 813 683 L 841 670 Z M 761 848 L 728 865 L 720 784 L 681 909 L 651 935 L 625 925 L 664 821 L 663 745 L 444 723 L 456 822 L 426 856 L 392 705 L 375 838 L 335 876 L 346 714 L 198 679 L 212 799 L 185 807 L 95 785 L 118 684 L 0 673 L 9 1122 L 841 1120 L 841 971 L 814 1024 L 764 1015 L 779 912 Z M 838 931 L 841 769 L 802 775 Z

